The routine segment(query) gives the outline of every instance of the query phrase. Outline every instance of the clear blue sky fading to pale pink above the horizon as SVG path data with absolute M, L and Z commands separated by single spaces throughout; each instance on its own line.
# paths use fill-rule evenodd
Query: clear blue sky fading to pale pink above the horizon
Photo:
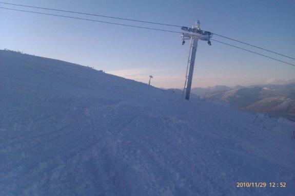
M 4 1 L 191 26 L 295 56 L 294 1 Z M 7 8 L 29 8 L 0 5 Z M 180 31 L 124 20 L 37 10 Z M 182 88 L 188 44 L 179 34 L 0 9 L 0 49 L 70 61 L 163 88 Z M 238 43 L 213 36 L 214 39 Z M 265 55 L 295 63 L 263 51 Z M 248 85 L 295 78 L 295 67 L 212 41 L 199 42 L 192 86 Z

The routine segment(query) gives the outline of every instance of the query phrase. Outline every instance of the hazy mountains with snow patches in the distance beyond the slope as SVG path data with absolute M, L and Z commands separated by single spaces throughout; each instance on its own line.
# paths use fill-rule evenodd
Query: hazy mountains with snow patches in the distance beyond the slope
M 193 88 L 193 94 L 203 99 L 221 100 L 241 110 L 266 113 L 295 121 L 295 82 L 253 86 L 216 85 Z

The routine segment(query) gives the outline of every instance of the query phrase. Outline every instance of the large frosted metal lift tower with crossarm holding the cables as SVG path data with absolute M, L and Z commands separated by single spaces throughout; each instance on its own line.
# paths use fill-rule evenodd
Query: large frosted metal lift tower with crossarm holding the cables
M 192 28 L 182 27 L 183 31 L 187 31 L 189 33 L 183 33 L 181 35 L 182 45 L 184 45 L 185 40 L 190 39 L 190 47 L 189 47 L 189 54 L 188 54 L 188 61 L 187 61 L 187 68 L 186 68 L 186 75 L 185 75 L 185 83 L 183 88 L 183 94 L 185 92 L 185 99 L 189 100 L 190 89 L 191 89 L 191 82 L 192 82 L 192 74 L 193 74 L 193 66 L 194 66 L 194 59 L 196 53 L 196 47 L 198 47 L 198 40 L 201 39 L 203 41 L 207 41 L 208 45 L 211 46 L 210 37 L 212 37 L 212 33 L 209 31 L 202 31 L 200 29 L 200 21 L 197 20 Z

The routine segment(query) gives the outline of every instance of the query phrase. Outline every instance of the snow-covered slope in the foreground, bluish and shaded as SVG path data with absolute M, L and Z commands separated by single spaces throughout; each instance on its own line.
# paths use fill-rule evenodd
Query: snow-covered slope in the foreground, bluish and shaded
M 0 79 L 0 195 L 294 195 L 293 122 L 8 51 Z

